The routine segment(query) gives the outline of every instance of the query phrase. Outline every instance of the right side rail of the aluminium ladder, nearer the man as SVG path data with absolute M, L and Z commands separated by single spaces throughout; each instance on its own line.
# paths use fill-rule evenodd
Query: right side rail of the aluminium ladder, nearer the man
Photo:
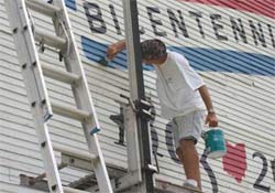
M 64 1 L 54 1 L 53 2 L 54 6 L 57 7 L 63 7 L 65 8 L 65 2 Z M 69 21 L 68 14 L 65 11 L 64 12 L 64 18 L 63 21 Z M 73 34 L 73 32 L 70 30 L 68 30 L 67 34 L 65 32 L 63 32 L 63 28 L 59 28 L 59 23 L 58 22 L 54 22 L 55 24 L 55 29 L 61 30 L 59 34 L 63 37 L 68 37 L 69 39 L 69 49 L 68 51 L 68 57 L 64 57 L 65 64 L 66 64 L 66 68 L 68 72 L 74 72 L 75 74 L 79 74 L 82 78 L 80 79 L 80 82 L 78 83 L 78 87 L 73 87 L 73 93 L 75 95 L 76 98 L 76 105 L 79 109 L 81 110 L 87 110 L 88 112 L 90 112 L 91 115 L 94 115 L 94 117 L 90 117 L 89 119 L 87 119 L 86 121 L 82 122 L 82 127 L 85 130 L 85 136 L 86 136 L 86 140 L 88 143 L 88 148 L 89 148 L 89 152 L 94 153 L 96 156 L 99 157 L 99 162 L 92 163 L 94 164 L 94 169 L 95 172 L 97 174 L 97 178 L 102 179 L 102 183 L 99 182 L 99 189 L 101 192 L 112 192 L 112 186 L 111 186 L 111 182 L 109 180 L 108 176 L 108 171 L 106 167 L 97 167 L 97 164 L 101 164 L 105 165 L 105 159 L 103 159 L 103 154 L 102 151 L 97 148 L 99 147 L 99 140 L 97 138 L 97 133 L 100 130 L 100 125 L 99 125 L 99 120 L 97 117 L 97 112 L 95 109 L 95 105 L 92 103 L 92 97 L 89 93 L 89 88 L 88 88 L 88 82 L 87 78 L 85 76 L 85 72 L 84 72 L 84 66 L 81 64 L 81 60 L 77 50 L 77 44 L 75 41 L 75 36 Z M 65 29 L 72 29 L 72 25 L 69 22 L 64 23 Z M 67 35 L 67 36 L 66 36 Z M 67 54 L 66 51 L 64 51 L 64 54 Z M 74 65 L 75 62 L 78 62 L 79 65 Z M 81 98 L 81 100 L 79 100 L 79 98 Z M 90 137 L 90 135 L 92 133 L 92 138 Z

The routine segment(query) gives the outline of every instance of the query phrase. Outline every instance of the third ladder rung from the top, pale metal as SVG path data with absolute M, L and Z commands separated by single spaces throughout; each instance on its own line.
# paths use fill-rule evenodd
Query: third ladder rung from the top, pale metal
M 43 74 L 63 83 L 76 84 L 80 76 L 42 63 Z

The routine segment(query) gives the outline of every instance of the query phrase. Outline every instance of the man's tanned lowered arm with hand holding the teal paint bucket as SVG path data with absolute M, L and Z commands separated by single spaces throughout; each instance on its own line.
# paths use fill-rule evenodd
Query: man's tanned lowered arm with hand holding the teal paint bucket
M 208 92 L 208 88 L 206 85 L 201 86 L 198 88 L 200 96 L 202 98 L 202 100 L 205 101 L 205 105 L 207 107 L 207 118 L 206 118 L 206 124 L 209 124 L 209 127 L 217 127 L 218 126 L 218 118 L 216 116 L 216 112 L 213 110 L 213 106 L 212 106 L 212 100 L 210 97 L 210 94 Z

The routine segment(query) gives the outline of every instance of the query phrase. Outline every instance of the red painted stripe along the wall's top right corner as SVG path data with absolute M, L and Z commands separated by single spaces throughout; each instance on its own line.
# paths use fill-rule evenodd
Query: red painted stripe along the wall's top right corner
M 197 2 L 224 8 L 231 8 L 239 11 L 249 11 L 255 14 L 263 14 L 275 18 L 275 0 L 178 0 L 187 2 Z

